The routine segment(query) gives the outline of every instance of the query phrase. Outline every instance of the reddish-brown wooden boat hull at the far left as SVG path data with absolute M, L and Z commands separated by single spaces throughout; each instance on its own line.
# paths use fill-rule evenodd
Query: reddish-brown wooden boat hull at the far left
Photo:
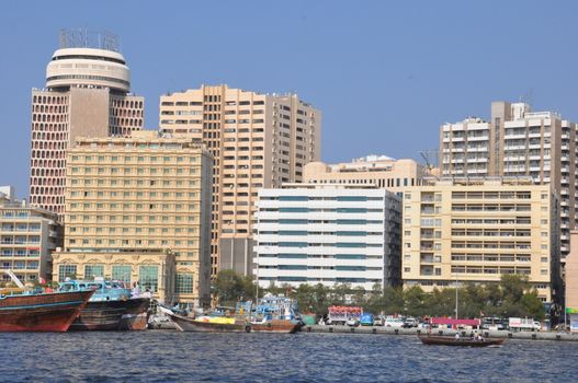
M 66 332 L 93 291 L 7 295 L 0 299 L 0 332 Z

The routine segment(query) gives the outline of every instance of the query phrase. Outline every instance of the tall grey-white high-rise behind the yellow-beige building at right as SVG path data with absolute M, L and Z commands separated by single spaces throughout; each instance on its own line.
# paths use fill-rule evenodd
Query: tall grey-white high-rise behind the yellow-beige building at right
M 524 176 L 559 195 L 562 262 L 576 228 L 577 125 L 524 103 L 491 103 L 491 120 L 467 118 L 440 129 L 442 176 Z

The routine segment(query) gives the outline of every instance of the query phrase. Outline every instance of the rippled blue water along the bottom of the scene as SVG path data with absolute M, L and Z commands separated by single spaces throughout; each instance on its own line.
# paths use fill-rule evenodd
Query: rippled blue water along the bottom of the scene
M 0 334 L 5 382 L 557 382 L 576 378 L 578 345 L 423 346 L 411 336 Z

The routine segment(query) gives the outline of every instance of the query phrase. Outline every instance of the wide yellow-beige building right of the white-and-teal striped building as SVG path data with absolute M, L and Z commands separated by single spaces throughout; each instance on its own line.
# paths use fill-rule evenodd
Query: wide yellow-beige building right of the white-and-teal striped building
M 557 196 L 529 178 L 441 179 L 404 195 L 404 286 L 426 291 L 526 276 L 539 297 L 559 291 Z

